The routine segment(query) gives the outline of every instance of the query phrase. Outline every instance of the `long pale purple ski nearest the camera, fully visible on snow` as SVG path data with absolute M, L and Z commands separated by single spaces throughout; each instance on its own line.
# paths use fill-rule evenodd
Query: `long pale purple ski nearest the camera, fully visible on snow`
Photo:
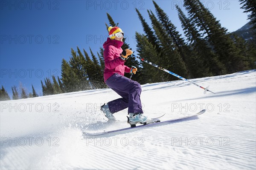
M 152 120 L 152 121 L 148 121 L 145 124 L 142 124 L 142 125 L 136 126 L 136 127 L 126 127 L 126 128 L 123 128 L 123 129 L 111 130 L 111 131 L 99 132 L 99 133 L 83 132 L 83 134 L 86 135 L 86 136 L 110 135 L 111 133 L 117 133 L 117 132 L 120 132 L 120 131 L 137 130 L 137 129 L 140 129 L 142 127 L 148 127 L 148 126 L 153 126 L 153 125 L 157 125 L 157 124 L 164 124 L 164 123 L 171 123 L 171 122 L 175 122 L 175 121 L 181 121 L 181 120 L 185 120 L 187 118 L 192 118 L 192 117 L 201 115 L 204 112 L 205 112 L 205 109 L 201 110 L 200 112 L 196 113 L 195 115 L 189 115 L 189 116 L 185 116 L 185 117 L 181 117 L 181 118 L 170 119 L 170 120 L 167 120 L 167 121 L 159 121 L 159 120 L 154 121 L 154 120 Z

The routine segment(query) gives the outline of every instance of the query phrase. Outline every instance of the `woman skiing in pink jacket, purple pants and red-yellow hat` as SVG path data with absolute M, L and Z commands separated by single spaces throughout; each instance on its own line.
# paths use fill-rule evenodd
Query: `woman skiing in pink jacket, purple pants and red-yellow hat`
M 143 115 L 140 101 L 141 86 L 137 81 L 133 81 L 124 76 L 125 72 L 136 74 L 137 68 L 125 66 L 125 61 L 133 53 L 130 49 L 122 50 L 122 39 L 124 32 L 119 27 L 108 28 L 109 37 L 103 44 L 104 48 L 104 81 L 122 98 L 105 103 L 101 110 L 105 116 L 114 120 L 113 113 L 128 107 L 128 123 L 145 123 L 147 117 Z

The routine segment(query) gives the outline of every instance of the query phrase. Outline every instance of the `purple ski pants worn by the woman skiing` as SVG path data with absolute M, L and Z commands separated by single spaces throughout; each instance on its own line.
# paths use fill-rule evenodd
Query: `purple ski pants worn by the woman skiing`
M 111 113 L 127 107 L 128 113 L 143 113 L 140 101 L 141 86 L 137 81 L 115 73 L 108 78 L 106 84 L 122 97 L 108 102 Z

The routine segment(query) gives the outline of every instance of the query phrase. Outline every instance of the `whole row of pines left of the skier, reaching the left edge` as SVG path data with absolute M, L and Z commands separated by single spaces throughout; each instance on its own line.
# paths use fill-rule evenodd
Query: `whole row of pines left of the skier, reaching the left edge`
M 88 89 L 102 89 L 107 88 L 104 83 L 104 58 L 103 49 L 100 48 L 100 52 L 97 52 L 99 60 L 96 55 L 93 54 L 90 49 L 92 60 L 88 53 L 83 49 L 82 54 L 79 47 L 77 52 L 71 49 L 71 57 L 69 61 L 62 59 L 61 64 L 61 78 L 52 76 L 50 78 L 44 78 L 41 81 L 43 95 L 55 95 L 65 92 L 75 92 Z M 17 87 L 12 87 L 12 99 L 32 98 L 37 97 L 38 94 L 32 85 L 32 93 L 27 94 L 25 88 L 20 84 L 20 94 L 17 92 Z M 0 89 L 1 101 L 10 100 L 10 97 L 6 90 Z

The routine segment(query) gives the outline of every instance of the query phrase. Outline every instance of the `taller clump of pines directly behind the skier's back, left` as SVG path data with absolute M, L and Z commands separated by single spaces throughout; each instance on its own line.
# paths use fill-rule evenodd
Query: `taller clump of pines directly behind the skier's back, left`
M 69 62 L 62 59 L 61 81 L 59 81 L 62 92 L 106 88 L 103 79 L 103 49 L 100 49 L 100 53 L 97 53 L 99 60 L 91 49 L 92 60 L 84 49 L 83 52 L 84 54 L 77 47 L 77 52 L 71 49 L 72 57 L 70 57 Z

